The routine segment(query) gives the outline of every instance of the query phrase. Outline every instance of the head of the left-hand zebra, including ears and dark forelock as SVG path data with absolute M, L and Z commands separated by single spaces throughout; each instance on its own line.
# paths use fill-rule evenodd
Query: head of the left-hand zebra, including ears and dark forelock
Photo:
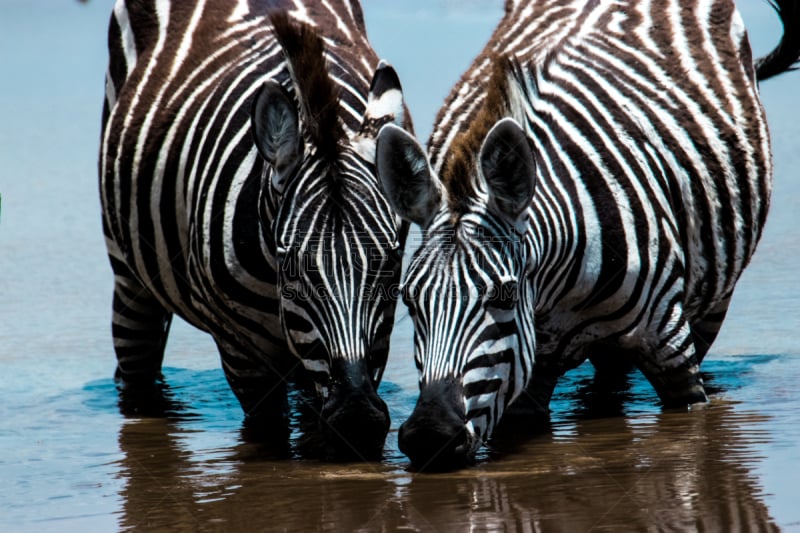
M 323 400 L 326 453 L 363 457 L 379 453 L 389 428 L 376 390 L 407 225 L 381 191 L 374 157 L 378 127 L 403 122 L 402 92 L 381 63 L 361 126 L 348 134 L 339 113 L 352 95 L 339 94 L 322 40 L 306 35 L 296 49 L 285 41 L 293 84 L 266 83 L 252 110 L 267 163 L 264 240 L 275 246 L 283 334 Z

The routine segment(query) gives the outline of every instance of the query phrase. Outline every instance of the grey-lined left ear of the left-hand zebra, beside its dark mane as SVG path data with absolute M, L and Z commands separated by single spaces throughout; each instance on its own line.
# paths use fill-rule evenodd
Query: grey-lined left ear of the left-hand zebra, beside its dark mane
M 283 191 L 302 159 L 297 107 L 286 89 L 269 81 L 253 101 L 250 122 L 258 152 L 272 165 L 272 184 Z

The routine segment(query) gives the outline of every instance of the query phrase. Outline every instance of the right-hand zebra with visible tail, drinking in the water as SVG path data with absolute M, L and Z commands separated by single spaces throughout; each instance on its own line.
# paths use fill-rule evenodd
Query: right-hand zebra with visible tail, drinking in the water
M 546 417 L 587 358 L 637 366 L 665 406 L 706 400 L 698 365 L 769 203 L 757 80 L 797 59 L 798 4 L 776 3 L 781 45 L 754 62 L 731 0 L 509 0 L 430 159 L 381 130 L 378 175 L 423 228 L 412 464 L 471 460 L 515 400 L 515 423 Z

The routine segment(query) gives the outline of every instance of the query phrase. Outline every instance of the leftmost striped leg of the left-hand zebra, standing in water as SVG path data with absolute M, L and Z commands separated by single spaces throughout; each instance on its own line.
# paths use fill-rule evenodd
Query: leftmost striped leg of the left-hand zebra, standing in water
M 112 258 L 114 299 L 111 334 L 117 355 L 114 378 L 121 389 L 152 389 L 161 378 L 172 313 Z

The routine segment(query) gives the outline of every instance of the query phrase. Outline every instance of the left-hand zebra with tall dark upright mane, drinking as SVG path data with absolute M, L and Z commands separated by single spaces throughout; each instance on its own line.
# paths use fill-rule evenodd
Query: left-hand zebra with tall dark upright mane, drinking
M 287 434 L 294 375 L 323 400 L 326 453 L 379 452 L 408 225 L 375 139 L 411 123 L 358 1 L 118 0 L 109 53 L 99 177 L 120 388 L 159 383 L 177 314 L 214 338 L 255 435 Z

